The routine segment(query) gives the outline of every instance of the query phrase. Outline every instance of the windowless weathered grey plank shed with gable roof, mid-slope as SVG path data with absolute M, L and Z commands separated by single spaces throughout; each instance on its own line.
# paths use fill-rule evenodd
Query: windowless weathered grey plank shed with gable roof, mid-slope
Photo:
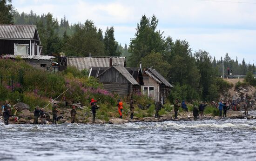
M 120 64 L 115 64 L 107 68 L 96 78 L 103 83 L 103 87 L 109 92 L 114 92 L 120 96 L 128 96 L 133 92 L 140 90 L 140 84 L 128 72 L 128 70 Z

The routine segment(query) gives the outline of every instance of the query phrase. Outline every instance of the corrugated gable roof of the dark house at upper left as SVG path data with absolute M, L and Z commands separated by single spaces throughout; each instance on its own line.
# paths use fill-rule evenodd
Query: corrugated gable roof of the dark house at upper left
M 34 34 L 41 44 L 35 25 L 0 25 L 0 39 L 33 39 Z

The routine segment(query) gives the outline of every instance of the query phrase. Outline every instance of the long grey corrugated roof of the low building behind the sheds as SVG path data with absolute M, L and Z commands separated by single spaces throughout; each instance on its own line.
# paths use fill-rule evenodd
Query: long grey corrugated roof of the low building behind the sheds
M 112 63 L 110 63 L 112 60 Z M 125 57 L 67 57 L 67 66 L 74 66 L 78 70 L 90 67 L 111 67 L 114 64 L 126 66 Z

